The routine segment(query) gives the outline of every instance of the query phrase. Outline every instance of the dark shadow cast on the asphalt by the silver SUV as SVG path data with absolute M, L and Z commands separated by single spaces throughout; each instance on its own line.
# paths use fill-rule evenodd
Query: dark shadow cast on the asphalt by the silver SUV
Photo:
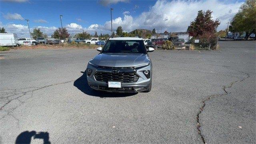
M 126 96 L 133 96 L 135 94 L 138 94 L 138 92 L 137 93 L 110 93 L 110 92 L 100 92 L 100 91 L 93 90 L 88 85 L 86 72 L 81 72 L 81 73 L 83 73 L 83 75 L 74 81 L 74 86 L 78 88 L 78 90 L 81 90 L 81 92 L 83 92 L 84 94 L 87 94 L 90 96 L 98 96 L 101 98 L 126 97 Z

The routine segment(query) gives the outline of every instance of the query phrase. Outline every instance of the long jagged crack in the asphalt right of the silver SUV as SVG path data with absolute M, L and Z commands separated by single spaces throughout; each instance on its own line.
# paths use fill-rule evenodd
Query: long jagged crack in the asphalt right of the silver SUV
M 234 69 L 232 69 L 232 68 L 229 68 L 229 66 L 223 66 L 223 67 L 224 67 L 224 68 L 227 68 L 227 69 L 229 69 L 229 70 L 234 70 Z M 199 110 L 199 112 L 197 113 L 196 119 L 197 119 L 197 131 L 198 131 L 198 134 L 200 135 L 201 140 L 202 140 L 202 142 L 203 142 L 204 144 L 206 144 L 206 142 L 205 142 L 204 136 L 202 135 L 201 130 L 200 130 L 200 129 L 201 129 L 201 125 L 200 125 L 200 121 L 199 121 L 199 119 L 200 119 L 199 116 L 200 116 L 201 112 L 204 110 L 205 102 L 208 101 L 208 100 L 210 100 L 211 98 L 214 98 L 214 97 L 217 97 L 217 96 L 225 96 L 225 95 L 229 94 L 228 91 L 226 90 L 227 88 L 231 88 L 236 82 L 242 82 L 242 81 L 244 81 L 246 78 L 250 78 L 250 75 L 249 75 L 248 73 L 246 73 L 246 72 L 242 72 L 242 71 L 239 71 L 239 70 L 234 70 L 234 71 L 237 71 L 237 72 L 241 72 L 241 73 L 243 73 L 243 74 L 246 74 L 247 77 L 244 77 L 244 78 L 242 78 L 242 79 L 240 79 L 240 80 L 233 81 L 233 82 L 231 82 L 229 85 L 223 86 L 223 87 L 222 87 L 222 89 L 224 90 L 224 93 L 223 93 L 223 94 L 211 95 L 211 96 L 209 96 L 208 98 L 202 100 L 202 104 L 203 104 L 203 105 L 200 107 L 200 110 Z

